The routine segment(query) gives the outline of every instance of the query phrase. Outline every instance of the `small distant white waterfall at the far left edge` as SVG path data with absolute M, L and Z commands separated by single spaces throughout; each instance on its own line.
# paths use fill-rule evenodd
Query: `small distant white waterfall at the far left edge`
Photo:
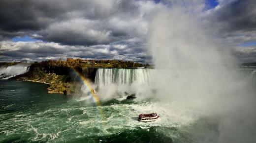
M 8 66 L 8 67 L 0 67 L 0 79 L 9 79 L 19 74 L 23 74 L 29 71 L 29 67 L 24 66 Z

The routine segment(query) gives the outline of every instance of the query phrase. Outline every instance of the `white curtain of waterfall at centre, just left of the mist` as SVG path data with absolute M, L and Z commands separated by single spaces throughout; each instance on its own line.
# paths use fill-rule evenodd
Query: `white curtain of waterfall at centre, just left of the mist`
M 111 84 L 150 84 L 151 72 L 150 69 L 98 69 L 95 83 L 100 87 Z

